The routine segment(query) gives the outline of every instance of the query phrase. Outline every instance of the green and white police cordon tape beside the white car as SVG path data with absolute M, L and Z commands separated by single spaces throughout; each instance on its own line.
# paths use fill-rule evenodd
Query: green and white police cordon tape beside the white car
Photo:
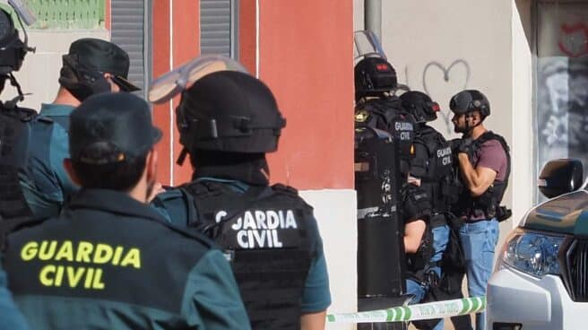
M 399 306 L 358 313 L 328 314 L 327 322 L 333 323 L 381 323 L 416 321 L 431 318 L 456 317 L 478 313 L 486 308 L 486 297 L 443 300 L 418 305 Z

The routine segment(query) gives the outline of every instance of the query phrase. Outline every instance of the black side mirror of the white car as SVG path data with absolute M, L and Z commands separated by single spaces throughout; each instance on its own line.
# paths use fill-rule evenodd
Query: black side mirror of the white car
M 548 161 L 539 176 L 537 186 L 548 198 L 572 192 L 584 183 L 582 162 L 575 159 Z

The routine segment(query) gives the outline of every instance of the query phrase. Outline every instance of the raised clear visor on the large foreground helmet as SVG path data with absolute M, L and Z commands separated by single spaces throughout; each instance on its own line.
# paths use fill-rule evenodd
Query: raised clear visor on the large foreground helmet
M 198 56 L 157 78 L 151 84 L 148 98 L 153 103 L 166 102 L 192 86 L 204 75 L 217 71 L 238 71 L 247 74 L 246 68 L 232 58 L 220 55 Z

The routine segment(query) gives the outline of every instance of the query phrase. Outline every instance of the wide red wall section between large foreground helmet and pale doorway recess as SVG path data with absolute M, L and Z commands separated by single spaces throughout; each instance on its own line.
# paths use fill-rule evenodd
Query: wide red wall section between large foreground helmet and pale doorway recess
M 353 4 L 260 0 L 260 78 L 287 119 L 272 177 L 353 187 Z

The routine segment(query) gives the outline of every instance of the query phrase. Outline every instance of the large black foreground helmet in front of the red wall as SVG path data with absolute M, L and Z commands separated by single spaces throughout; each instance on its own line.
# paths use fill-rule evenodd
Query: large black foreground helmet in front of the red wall
M 176 114 L 179 142 L 188 152 L 274 152 L 286 126 L 272 91 L 235 71 L 197 80 L 182 92 Z

